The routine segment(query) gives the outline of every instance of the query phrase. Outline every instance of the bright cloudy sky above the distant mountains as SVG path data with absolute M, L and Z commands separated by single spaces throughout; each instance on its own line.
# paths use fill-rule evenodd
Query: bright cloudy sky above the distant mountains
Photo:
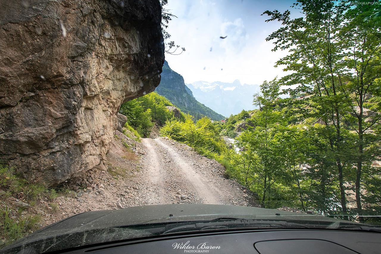
M 178 18 L 168 24 L 170 40 L 186 48 L 181 55 L 165 58 L 186 83 L 233 82 L 260 85 L 285 74 L 275 62 L 287 54 L 272 52 L 266 37 L 280 23 L 266 23 L 266 10 L 290 9 L 293 1 L 282 0 L 168 0 L 165 6 Z M 291 12 L 292 14 L 292 12 Z M 220 36 L 227 36 L 220 39 Z M 204 69 L 205 68 L 205 69 Z M 221 70 L 222 69 L 222 70 Z

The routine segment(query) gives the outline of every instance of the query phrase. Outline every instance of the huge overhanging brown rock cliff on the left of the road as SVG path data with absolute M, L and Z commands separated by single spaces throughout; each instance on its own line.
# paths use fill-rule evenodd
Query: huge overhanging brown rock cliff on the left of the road
M 158 0 L 2 1 L 0 156 L 56 185 L 99 165 L 164 63 Z

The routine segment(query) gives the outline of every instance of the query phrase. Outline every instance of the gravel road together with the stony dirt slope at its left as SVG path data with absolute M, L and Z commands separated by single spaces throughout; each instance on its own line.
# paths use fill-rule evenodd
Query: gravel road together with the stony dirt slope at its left
M 51 201 L 57 211 L 42 200 L 35 212 L 43 215 L 43 225 L 80 212 L 150 204 L 256 206 L 249 191 L 223 177 L 221 164 L 168 138 L 137 142 L 117 132 L 105 165 L 68 183 L 75 195 Z

